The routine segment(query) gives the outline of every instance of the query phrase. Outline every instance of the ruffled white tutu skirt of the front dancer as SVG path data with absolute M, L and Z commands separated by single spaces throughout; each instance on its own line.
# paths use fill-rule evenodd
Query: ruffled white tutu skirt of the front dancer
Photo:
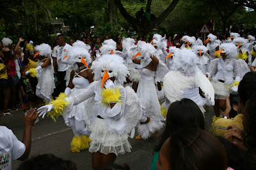
M 100 152 L 108 155 L 108 153 L 124 154 L 131 152 L 132 146 L 128 141 L 128 134 L 117 134 L 112 131 L 108 131 L 105 120 L 101 118 L 95 118 L 92 125 L 90 125 L 92 133 L 90 134 L 90 152 Z

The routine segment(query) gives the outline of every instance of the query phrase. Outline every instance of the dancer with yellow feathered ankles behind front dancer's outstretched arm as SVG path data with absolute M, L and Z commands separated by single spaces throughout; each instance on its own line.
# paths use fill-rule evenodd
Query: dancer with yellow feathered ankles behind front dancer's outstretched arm
M 92 69 L 88 68 L 88 65 L 92 63 L 92 59 L 83 41 L 76 41 L 68 52 L 67 57 L 72 71 L 65 94 L 68 97 L 74 97 L 84 92 L 93 81 Z M 91 104 L 91 100 L 88 99 L 79 103 L 72 108 L 70 113 L 63 114 L 65 124 L 72 127 L 75 135 L 71 142 L 72 152 L 80 152 L 89 148 L 90 139 L 88 136 L 90 136 L 90 131 L 87 131 L 86 125 L 90 125 L 88 115 L 93 113 L 87 113 L 89 110 L 86 110 L 86 104 Z

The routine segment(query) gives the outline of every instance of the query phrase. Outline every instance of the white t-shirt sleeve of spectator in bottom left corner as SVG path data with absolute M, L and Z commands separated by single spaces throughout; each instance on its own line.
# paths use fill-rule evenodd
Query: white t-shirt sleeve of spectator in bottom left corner
M 9 136 L 10 136 L 10 143 L 12 146 L 12 159 L 19 159 L 23 153 L 26 150 L 26 146 L 24 145 L 24 143 L 22 143 L 21 141 L 19 141 L 16 136 L 13 134 L 13 132 L 8 129 L 9 131 Z

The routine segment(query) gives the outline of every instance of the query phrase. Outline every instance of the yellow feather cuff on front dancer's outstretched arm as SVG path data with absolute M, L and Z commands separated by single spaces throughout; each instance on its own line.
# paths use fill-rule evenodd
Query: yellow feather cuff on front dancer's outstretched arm
M 54 122 L 56 122 L 56 119 L 54 117 L 58 118 L 62 113 L 64 113 L 65 107 L 70 104 L 68 101 L 65 100 L 66 97 L 68 97 L 67 94 L 61 93 L 55 100 L 52 100 L 49 103 L 54 106 L 54 109 L 48 113 L 48 115 L 51 116 Z

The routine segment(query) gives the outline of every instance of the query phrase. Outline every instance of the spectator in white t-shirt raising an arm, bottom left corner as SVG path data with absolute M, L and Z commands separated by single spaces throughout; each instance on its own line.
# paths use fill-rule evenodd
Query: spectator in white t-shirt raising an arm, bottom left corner
M 12 169 L 12 160 L 28 159 L 31 148 L 31 129 L 37 117 L 36 108 L 33 111 L 30 109 L 25 115 L 22 141 L 16 138 L 12 130 L 0 126 L 0 169 Z

